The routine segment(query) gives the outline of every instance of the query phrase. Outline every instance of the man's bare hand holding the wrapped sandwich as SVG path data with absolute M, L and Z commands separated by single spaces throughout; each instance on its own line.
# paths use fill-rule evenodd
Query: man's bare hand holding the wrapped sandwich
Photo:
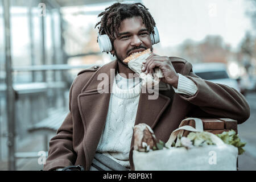
M 174 66 L 171 63 L 171 60 L 168 56 L 159 56 L 155 53 L 152 53 L 145 61 L 144 67 L 142 71 L 147 73 L 154 73 L 154 68 L 159 67 L 163 72 L 163 78 L 161 81 L 166 82 L 167 84 L 171 84 L 175 88 L 177 88 L 177 83 L 179 80 L 179 76 L 177 75 Z

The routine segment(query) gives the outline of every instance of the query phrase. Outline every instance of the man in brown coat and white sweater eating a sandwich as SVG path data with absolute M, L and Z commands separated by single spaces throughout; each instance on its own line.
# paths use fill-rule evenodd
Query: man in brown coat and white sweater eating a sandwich
M 133 126 L 138 123 L 146 123 L 156 138 L 167 142 L 187 116 L 232 118 L 238 123 L 249 118 L 249 105 L 237 90 L 197 77 L 192 65 L 178 57 L 152 53 L 144 61 L 145 73 L 153 73 L 156 67 L 163 72 L 157 99 L 148 99 L 152 93 L 134 92 L 142 89 L 141 80 L 122 60 L 131 53 L 152 50 L 154 19 L 141 3 L 115 3 L 99 16 L 99 34 L 109 36 L 113 47 L 110 53 L 117 60 L 86 69 L 73 81 L 69 114 L 49 142 L 45 170 L 73 165 L 100 170 L 96 159 L 102 159 L 106 166 L 113 162 L 115 167 L 110 169 L 134 169 Z M 104 85 L 109 93 L 102 93 L 98 87 L 101 74 L 109 78 L 109 84 Z M 102 158 L 97 158 L 98 154 L 103 154 Z

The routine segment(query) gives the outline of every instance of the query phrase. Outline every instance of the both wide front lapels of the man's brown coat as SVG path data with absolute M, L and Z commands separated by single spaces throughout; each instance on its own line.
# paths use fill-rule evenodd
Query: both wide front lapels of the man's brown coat
M 90 167 L 101 133 L 104 130 L 112 89 L 111 85 L 114 81 L 117 66 L 118 64 L 115 60 L 98 69 L 82 88 L 82 92 L 78 97 L 81 119 L 86 127 L 84 150 L 86 158 L 89 158 L 89 160 L 86 160 L 86 169 Z M 154 93 L 152 93 L 152 90 L 151 92 L 147 89 L 145 90 L 146 93 L 142 92 L 139 98 L 135 125 L 146 123 L 154 129 L 163 111 L 170 104 L 171 99 L 158 92 L 158 98 L 150 100 L 150 97 L 154 97 Z M 160 82 L 159 90 L 170 90 L 170 86 Z M 132 146 L 133 139 L 131 148 Z

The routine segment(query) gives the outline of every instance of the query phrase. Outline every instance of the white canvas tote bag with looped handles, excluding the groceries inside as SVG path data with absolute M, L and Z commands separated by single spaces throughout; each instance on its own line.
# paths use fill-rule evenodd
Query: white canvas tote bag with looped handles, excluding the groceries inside
M 189 120 L 195 121 L 195 128 L 187 126 Z M 174 130 L 163 150 L 149 152 L 133 151 L 134 169 L 136 171 L 215 171 L 237 169 L 238 149 L 225 144 L 216 135 L 210 133 L 210 139 L 216 145 L 193 147 L 171 147 L 178 135 L 183 135 L 184 130 L 203 132 L 203 122 L 200 118 L 187 118 L 181 121 L 178 129 Z M 179 139 L 179 137 L 177 138 Z

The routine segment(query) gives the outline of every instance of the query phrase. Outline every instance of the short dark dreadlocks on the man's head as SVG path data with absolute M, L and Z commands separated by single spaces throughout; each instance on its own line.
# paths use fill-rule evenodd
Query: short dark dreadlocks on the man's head
M 132 18 L 133 16 L 141 16 L 143 24 L 145 24 L 150 34 L 155 33 L 155 20 L 148 12 L 148 9 L 141 3 L 114 3 L 112 6 L 107 7 L 105 11 L 98 15 L 98 17 L 100 16 L 102 16 L 102 18 L 94 28 L 100 24 L 98 27 L 99 34 L 107 34 L 112 44 L 113 40 L 115 39 L 114 33 L 118 34 L 118 28 L 122 20 L 126 18 Z

